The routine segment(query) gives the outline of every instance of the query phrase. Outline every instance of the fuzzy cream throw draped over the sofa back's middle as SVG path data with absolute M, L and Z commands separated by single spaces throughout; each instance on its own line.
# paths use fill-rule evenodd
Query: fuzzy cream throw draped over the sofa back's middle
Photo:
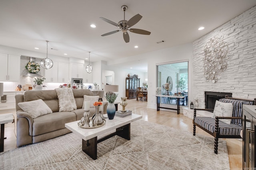
M 56 88 L 59 99 L 59 111 L 72 111 L 76 109 L 76 101 L 71 88 Z

